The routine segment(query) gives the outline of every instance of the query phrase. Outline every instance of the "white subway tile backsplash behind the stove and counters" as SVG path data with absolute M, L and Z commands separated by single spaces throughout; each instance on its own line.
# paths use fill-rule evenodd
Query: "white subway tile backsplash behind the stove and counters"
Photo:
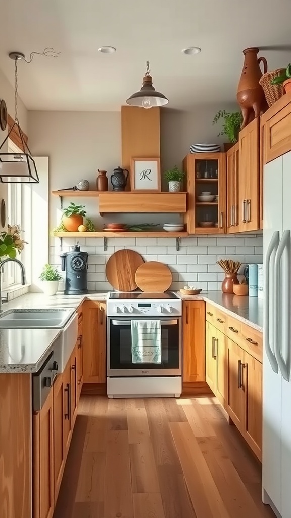
M 176 238 L 172 237 L 107 238 L 106 251 L 103 238 L 63 238 L 63 251 L 68 252 L 77 241 L 81 250 L 89 253 L 88 289 L 93 291 L 112 290 L 105 277 L 106 262 L 110 255 L 124 248 L 135 250 L 146 261 L 167 264 L 173 275 L 172 290 L 179 290 L 186 283 L 205 291 L 220 290 L 224 274 L 216 261 L 221 258 L 243 264 L 263 262 L 263 234 L 181 238 L 179 251 Z M 50 263 L 60 269 L 59 238 L 52 238 L 50 244 Z

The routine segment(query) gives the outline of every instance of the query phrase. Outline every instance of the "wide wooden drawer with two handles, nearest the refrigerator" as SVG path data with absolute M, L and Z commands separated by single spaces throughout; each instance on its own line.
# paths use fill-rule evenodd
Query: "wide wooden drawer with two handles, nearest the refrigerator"
M 259 362 L 263 357 L 263 335 L 239 320 L 227 316 L 227 336 Z

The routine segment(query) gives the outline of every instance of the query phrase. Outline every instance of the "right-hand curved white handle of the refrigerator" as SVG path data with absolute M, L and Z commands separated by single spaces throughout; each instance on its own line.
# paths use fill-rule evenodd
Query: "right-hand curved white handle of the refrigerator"
M 283 305 L 282 305 L 281 294 L 280 294 L 281 279 L 282 279 L 282 276 L 280 275 L 281 268 L 282 268 L 282 257 L 283 257 L 284 251 L 287 246 L 289 246 L 289 250 L 290 250 L 290 231 L 289 230 L 285 230 L 283 232 L 283 235 L 282 235 L 282 238 L 279 243 L 278 250 L 277 250 L 277 254 L 275 256 L 274 299 L 275 299 L 275 319 L 277 321 L 276 332 L 275 332 L 275 356 L 277 358 L 278 365 L 279 365 L 279 368 L 281 370 L 284 380 L 290 381 L 290 369 L 287 368 L 287 363 L 285 362 L 285 359 L 283 358 L 282 343 L 281 343 L 283 340 L 287 340 L 287 346 L 289 347 L 289 340 L 288 340 L 289 333 L 287 333 L 287 336 L 283 336 L 283 333 L 281 334 L 281 330 L 282 330 L 281 316 L 282 316 Z M 288 269 L 290 268 L 290 263 L 287 264 L 287 268 Z M 288 277 L 289 277 L 289 273 L 287 274 L 287 278 L 284 279 L 284 282 L 287 283 Z M 287 300 L 285 301 L 286 304 L 284 305 L 284 311 L 286 312 L 287 319 L 288 319 L 288 325 L 289 325 L 290 303 L 289 303 L 289 293 L 288 292 L 289 292 L 289 284 L 287 284 L 287 289 L 285 290 L 285 293 L 287 295 Z M 281 340 L 281 338 L 282 338 L 282 340 Z M 288 370 L 289 370 L 289 372 L 288 372 Z

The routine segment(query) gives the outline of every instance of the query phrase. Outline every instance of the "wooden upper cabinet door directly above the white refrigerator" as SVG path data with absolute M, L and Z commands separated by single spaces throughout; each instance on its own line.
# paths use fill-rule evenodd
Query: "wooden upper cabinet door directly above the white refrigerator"
M 263 163 L 291 151 L 291 92 L 283 95 L 261 116 Z

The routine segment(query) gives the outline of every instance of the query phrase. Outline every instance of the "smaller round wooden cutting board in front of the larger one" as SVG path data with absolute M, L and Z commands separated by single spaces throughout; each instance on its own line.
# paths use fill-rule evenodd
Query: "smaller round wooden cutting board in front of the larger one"
M 149 261 L 137 269 L 135 281 L 144 292 L 164 292 L 172 283 L 172 274 L 167 265 Z

